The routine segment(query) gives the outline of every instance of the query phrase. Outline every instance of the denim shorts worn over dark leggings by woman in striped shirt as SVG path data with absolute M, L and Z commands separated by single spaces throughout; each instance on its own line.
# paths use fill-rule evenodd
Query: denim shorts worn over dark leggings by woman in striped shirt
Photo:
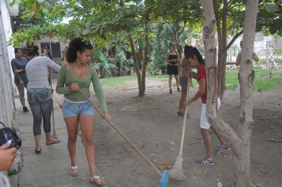
M 29 103 L 41 103 L 52 99 L 50 88 L 29 88 L 27 90 Z

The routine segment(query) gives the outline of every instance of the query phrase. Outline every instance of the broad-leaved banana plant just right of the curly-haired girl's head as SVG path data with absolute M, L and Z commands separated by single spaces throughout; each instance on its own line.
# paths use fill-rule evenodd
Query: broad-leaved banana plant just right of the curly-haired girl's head
M 93 67 L 95 69 L 101 69 L 101 78 L 105 78 L 104 76 L 104 70 L 111 74 L 109 69 L 116 68 L 117 66 L 113 63 L 113 61 L 116 61 L 115 58 L 107 58 L 100 49 L 97 49 L 92 55 L 91 62 L 94 62 L 95 59 L 99 59 L 100 62 L 97 62 Z

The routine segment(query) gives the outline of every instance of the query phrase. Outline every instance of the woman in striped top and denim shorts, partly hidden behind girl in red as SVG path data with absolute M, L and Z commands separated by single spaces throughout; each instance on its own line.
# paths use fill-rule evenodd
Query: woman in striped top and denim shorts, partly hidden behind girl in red
M 192 48 L 192 46 L 185 45 L 184 47 L 184 56 L 188 53 L 188 51 Z M 183 118 L 184 117 L 184 101 L 186 100 L 186 95 L 187 95 L 187 87 L 188 87 L 188 74 L 191 72 L 191 67 L 189 64 L 186 62 L 186 59 L 184 57 L 183 61 L 181 62 L 181 74 L 179 78 L 179 83 L 181 86 L 181 97 L 179 101 L 179 111 L 177 113 L 177 117 Z M 189 116 L 189 115 L 187 115 Z

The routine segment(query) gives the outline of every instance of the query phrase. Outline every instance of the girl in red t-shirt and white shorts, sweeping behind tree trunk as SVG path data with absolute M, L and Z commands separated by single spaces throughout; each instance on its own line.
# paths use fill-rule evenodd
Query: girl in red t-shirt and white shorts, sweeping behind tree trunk
M 209 136 L 209 128 L 211 127 L 211 125 L 209 124 L 208 120 L 206 119 L 206 67 L 205 67 L 205 61 L 197 48 L 192 48 L 188 53 L 186 53 L 185 59 L 192 68 L 198 69 L 197 73 L 191 72 L 189 76 L 191 78 L 197 79 L 199 83 L 199 90 L 191 99 L 188 99 L 187 101 L 185 101 L 185 106 L 190 105 L 192 102 L 196 101 L 196 99 L 200 97 L 202 100 L 200 127 L 201 127 L 201 134 L 202 134 L 205 148 L 206 148 L 206 156 L 200 160 L 197 160 L 196 163 L 200 165 L 212 165 L 214 164 L 214 161 L 212 159 L 212 146 L 211 146 L 211 139 Z M 220 98 L 218 97 L 217 98 L 218 109 L 220 107 L 220 104 L 221 104 L 221 101 L 220 101 Z M 230 148 L 227 146 L 222 136 L 220 134 L 217 134 L 216 132 L 215 134 L 217 135 L 217 138 L 219 139 L 221 143 L 220 147 L 215 151 L 215 153 L 221 153 L 221 152 L 229 150 Z

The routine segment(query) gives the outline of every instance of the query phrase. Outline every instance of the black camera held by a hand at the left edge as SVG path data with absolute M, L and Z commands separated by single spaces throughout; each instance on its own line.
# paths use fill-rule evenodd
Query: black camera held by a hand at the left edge
M 0 129 L 0 145 L 5 144 L 9 140 L 12 140 L 9 149 L 13 147 L 17 149 L 20 148 L 22 141 L 19 138 L 18 134 L 16 132 L 13 132 L 13 130 L 9 127 L 6 127 L 1 121 L 0 123 L 4 126 L 4 128 Z

